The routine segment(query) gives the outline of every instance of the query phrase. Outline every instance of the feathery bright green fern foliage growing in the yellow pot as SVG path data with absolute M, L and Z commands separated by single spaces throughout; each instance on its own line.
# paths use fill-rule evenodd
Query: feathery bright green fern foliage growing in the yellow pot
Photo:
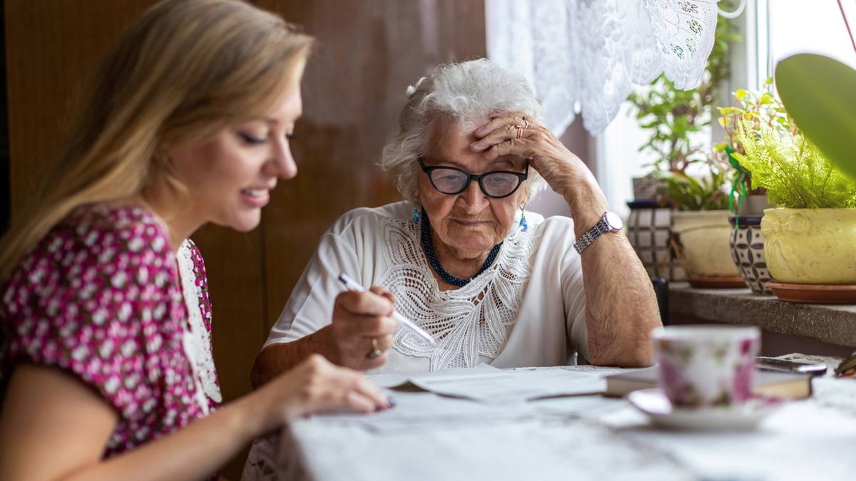
M 752 171 L 752 188 L 765 187 L 770 202 L 791 209 L 856 207 L 856 181 L 837 169 L 817 145 L 799 132 L 741 120 L 735 152 Z

